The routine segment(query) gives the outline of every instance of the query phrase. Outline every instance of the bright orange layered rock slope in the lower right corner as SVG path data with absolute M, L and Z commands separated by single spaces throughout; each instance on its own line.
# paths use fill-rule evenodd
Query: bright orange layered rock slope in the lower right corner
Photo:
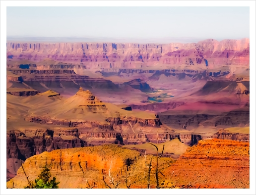
M 249 158 L 249 143 L 201 140 L 163 174 L 173 173 L 180 184 L 194 183 L 192 188 L 249 188 Z

